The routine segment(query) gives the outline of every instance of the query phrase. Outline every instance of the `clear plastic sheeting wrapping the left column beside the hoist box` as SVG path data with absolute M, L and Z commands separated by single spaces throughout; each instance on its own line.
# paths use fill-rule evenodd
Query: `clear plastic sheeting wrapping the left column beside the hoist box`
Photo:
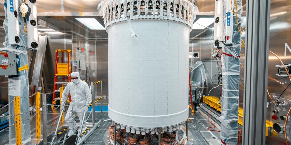
M 18 3 L 22 3 L 22 0 L 18 0 Z M 4 10 L 5 10 L 5 20 L 3 23 L 3 27 L 5 29 L 6 32 L 6 37 L 5 37 L 5 42 L 3 43 L 5 48 L 11 48 L 11 49 L 15 49 L 15 50 L 19 50 L 19 52 L 17 51 L 13 51 L 15 54 L 17 54 L 17 66 L 18 68 L 21 68 L 23 66 L 25 66 L 26 64 L 28 64 L 28 57 L 27 57 L 27 49 L 25 47 L 21 47 L 21 46 L 27 46 L 27 34 L 24 33 L 24 26 L 23 26 L 23 22 L 24 19 L 21 16 L 21 14 L 18 14 L 19 17 L 19 37 L 20 37 L 20 43 L 19 46 L 16 45 L 10 45 L 8 44 L 8 19 L 7 19 L 7 0 L 4 0 Z M 1 50 L 1 51 L 6 51 L 6 50 Z M 26 51 L 26 53 L 22 53 L 22 51 Z M 17 53 L 16 53 L 17 52 Z M 21 85 L 20 88 L 20 112 L 24 113 L 24 112 L 28 112 L 28 113 L 24 113 L 21 115 L 21 132 L 22 132 L 22 144 L 30 144 L 31 141 L 31 136 L 30 136 L 30 120 L 29 120 L 29 82 L 28 82 L 28 71 L 22 70 L 19 71 L 19 75 L 15 75 L 15 76 L 9 76 L 10 80 L 20 80 L 21 81 Z M 11 100 L 13 100 L 15 96 L 9 96 L 9 102 Z M 23 97 L 27 97 L 27 98 L 23 98 Z M 9 115 L 14 115 L 14 104 L 12 103 L 11 105 L 9 105 Z M 9 125 L 13 124 L 15 122 L 14 116 L 9 117 Z M 16 144 L 15 142 L 15 126 L 12 126 L 9 129 L 9 144 Z

